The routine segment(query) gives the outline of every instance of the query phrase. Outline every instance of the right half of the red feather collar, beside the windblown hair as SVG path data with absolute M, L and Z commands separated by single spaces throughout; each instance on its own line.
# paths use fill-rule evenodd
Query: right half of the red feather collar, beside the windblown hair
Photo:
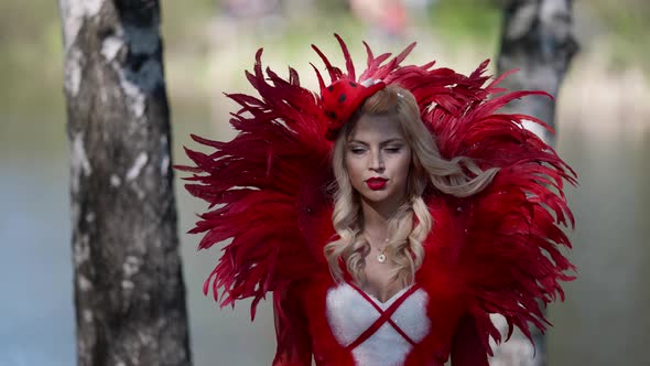
M 436 198 L 427 200 L 432 205 L 443 202 L 453 217 L 445 225 L 456 232 L 457 247 L 443 257 L 453 254 L 454 274 L 466 289 L 468 311 L 489 351 L 488 336 L 501 338 L 490 313 L 506 317 L 508 336 L 517 326 L 531 338 L 530 324 L 542 331 L 548 324 L 539 303 L 557 295 L 564 299 L 560 282 L 572 280 L 568 273 L 575 268 L 561 251 L 571 248 L 561 227 L 574 225 L 563 190 L 564 182 L 576 184 L 576 175 L 551 147 L 522 127 L 529 120 L 549 128 L 543 121 L 498 111 L 513 99 L 546 94 L 498 88 L 508 74 L 485 85 L 487 64 L 469 76 L 425 68 L 429 65 L 404 66 L 387 83 L 413 93 L 444 158 L 468 157 L 484 170 L 499 169 L 479 194 L 456 198 L 434 193 Z M 427 252 L 440 250 L 435 238 L 425 246 Z M 435 266 L 436 260 L 425 258 L 423 266 Z

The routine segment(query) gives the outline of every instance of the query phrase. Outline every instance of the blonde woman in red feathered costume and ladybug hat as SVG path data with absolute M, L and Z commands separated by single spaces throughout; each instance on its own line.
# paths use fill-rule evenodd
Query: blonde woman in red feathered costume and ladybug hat
M 573 267 L 557 247 L 573 172 L 534 134 L 528 116 L 496 110 L 531 93 L 469 76 L 383 63 L 368 49 L 357 79 L 323 58 L 321 98 L 261 69 L 261 98 L 242 106 L 240 133 L 188 150 L 193 194 L 219 208 L 193 233 L 201 248 L 232 238 L 205 283 L 221 304 L 273 291 L 273 365 L 487 365 L 489 321 L 544 329 L 538 300 L 562 294 Z M 334 187 L 334 190 L 332 190 Z M 213 281 L 213 278 L 215 279 Z

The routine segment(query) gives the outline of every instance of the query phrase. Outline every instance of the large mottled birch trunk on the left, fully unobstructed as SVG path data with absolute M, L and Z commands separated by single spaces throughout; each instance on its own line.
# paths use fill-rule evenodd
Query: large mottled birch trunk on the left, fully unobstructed
M 78 365 L 189 365 L 156 0 L 59 0 Z

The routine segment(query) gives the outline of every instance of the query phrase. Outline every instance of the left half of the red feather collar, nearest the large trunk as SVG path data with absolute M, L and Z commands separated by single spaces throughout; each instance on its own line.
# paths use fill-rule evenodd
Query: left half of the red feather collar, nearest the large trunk
M 205 233 L 198 248 L 231 239 L 204 292 L 212 288 L 218 300 L 221 289 L 221 305 L 253 298 L 251 317 L 267 292 L 327 270 L 317 245 L 333 233 L 327 117 L 294 69 L 289 79 L 269 68 L 264 74 L 261 55 L 259 50 L 253 72 L 246 73 L 259 96 L 226 95 L 241 107 L 230 119 L 238 136 L 220 142 L 193 134 L 210 151 L 185 148 L 195 165 L 175 166 L 193 173 L 185 187 L 212 209 L 189 232 Z

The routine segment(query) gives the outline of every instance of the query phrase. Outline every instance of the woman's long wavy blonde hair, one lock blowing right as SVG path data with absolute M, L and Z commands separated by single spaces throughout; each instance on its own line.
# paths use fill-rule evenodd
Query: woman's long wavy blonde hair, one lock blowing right
M 409 90 L 389 85 L 368 97 L 342 128 L 332 153 L 336 177 L 332 222 L 338 237 L 328 243 L 324 250 L 329 271 L 336 281 L 344 280 L 339 265 L 343 261 L 357 283 L 366 282 L 365 257 L 370 252 L 370 245 L 362 235 L 360 198 L 350 183 L 345 153 L 358 119 L 368 115 L 393 117 L 412 151 L 407 196 L 388 222 L 389 241 L 386 247 L 388 258 L 396 268 L 392 280 L 405 287 L 413 282 L 415 272 L 422 266 L 422 243 L 434 225 L 422 198 L 427 185 L 432 184 L 445 194 L 466 197 L 485 189 L 498 169 L 483 171 L 472 159 L 465 157 L 443 159 L 431 132 L 421 122 L 418 103 Z

